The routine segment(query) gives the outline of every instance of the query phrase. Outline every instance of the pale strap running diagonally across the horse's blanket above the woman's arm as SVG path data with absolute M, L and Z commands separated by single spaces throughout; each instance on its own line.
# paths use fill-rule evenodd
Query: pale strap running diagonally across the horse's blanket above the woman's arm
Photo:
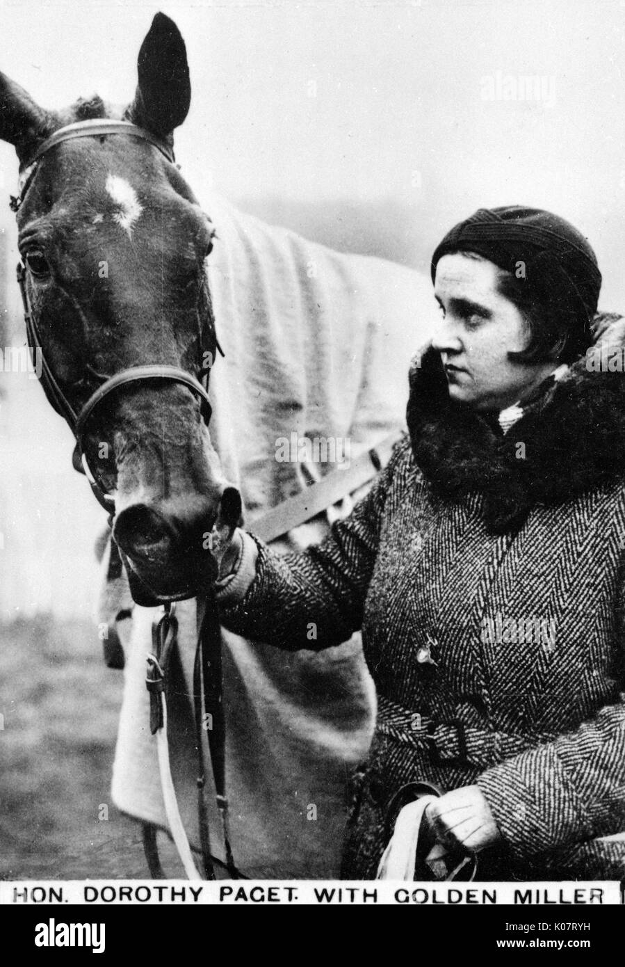
M 358 487 L 373 480 L 388 462 L 397 440 L 397 431 L 385 436 L 371 450 L 356 456 L 349 466 L 339 465 L 323 480 L 311 484 L 293 497 L 287 497 L 258 520 L 251 521 L 249 529 L 255 537 L 269 543 L 316 517 L 318 513 L 327 511 L 332 504 L 337 504 Z

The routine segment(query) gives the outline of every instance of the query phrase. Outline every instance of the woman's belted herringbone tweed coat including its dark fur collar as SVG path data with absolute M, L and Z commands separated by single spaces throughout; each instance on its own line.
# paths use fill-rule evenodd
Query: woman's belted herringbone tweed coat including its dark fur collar
M 477 783 L 502 845 L 483 879 L 625 874 L 625 379 L 585 360 L 506 435 L 449 399 L 432 348 L 368 496 L 278 557 L 223 623 L 285 649 L 362 630 L 378 692 L 343 875 L 375 876 L 406 782 Z M 612 837 L 612 838 L 611 838 Z

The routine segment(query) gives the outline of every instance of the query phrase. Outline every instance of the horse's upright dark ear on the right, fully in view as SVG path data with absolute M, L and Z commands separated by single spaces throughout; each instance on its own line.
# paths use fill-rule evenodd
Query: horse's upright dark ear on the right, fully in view
M 159 137 L 168 137 L 185 120 L 191 103 L 186 47 L 168 16 L 156 14 L 141 44 L 139 83 L 127 117 Z

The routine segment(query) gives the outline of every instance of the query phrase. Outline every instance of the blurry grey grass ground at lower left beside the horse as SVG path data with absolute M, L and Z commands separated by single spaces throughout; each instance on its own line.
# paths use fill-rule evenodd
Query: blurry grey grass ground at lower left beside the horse
M 90 623 L 0 628 L 0 879 L 147 877 L 110 802 L 121 695 Z

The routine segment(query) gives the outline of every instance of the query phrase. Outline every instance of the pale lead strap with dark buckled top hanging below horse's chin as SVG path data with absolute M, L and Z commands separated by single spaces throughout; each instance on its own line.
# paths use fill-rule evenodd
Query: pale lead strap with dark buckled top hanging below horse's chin
M 174 616 L 174 609 L 174 604 L 166 604 L 163 615 L 152 627 L 154 651 L 148 655 L 148 674 L 146 676 L 146 686 L 150 692 L 150 731 L 153 735 L 156 735 L 160 787 L 172 838 L 185 867 L 187 879 L 201 880 L 202 877 L 197 871 L 191 854 L 191 847 L 186 837 L 169 763 L 165 678 L 172 649 L 178 637 L 178 621 Z

